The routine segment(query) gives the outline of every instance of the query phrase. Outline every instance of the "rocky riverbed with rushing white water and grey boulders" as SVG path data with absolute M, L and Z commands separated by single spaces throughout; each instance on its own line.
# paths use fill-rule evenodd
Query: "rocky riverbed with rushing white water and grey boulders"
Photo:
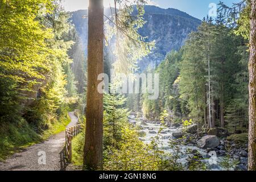
M 129 122 L 139 126 L 144 143 L 149 144 L 162 126 L 158 121 L 147 121 L 143 118 L 137 119 L 135 115 L 129 116 Z M 224 129 L 212 129 L 200 131 L 197 125 L 190 125 L 187 128 L 179 124 L 168 124 L 160 132 L 162 140 L 161 147 L 165 152 L 172 152 L 170 140 L 177 141 L 180 144 L 181 153 L 179 162 L 185 164 L 188 159 L 197 156 L 204 162 L 210 170 L 225 170 L 221 167 L 220 162 L 230 156 L 230 161 L 236 160 L 237 163 L 230 170 L 245 171 L 247 170 L 247 145 L 237 144 L 228 141 L 228 131 Z M 188 152 L 187 151 L 191 151 Z

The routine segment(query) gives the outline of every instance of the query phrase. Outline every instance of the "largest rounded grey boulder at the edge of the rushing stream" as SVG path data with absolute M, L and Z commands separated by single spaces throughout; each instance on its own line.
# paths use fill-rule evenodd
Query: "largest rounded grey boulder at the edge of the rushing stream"
M 196 142 L 199 148 L 215 148 L 220 144 L 220 140 L 215 135 L 206 135 Z

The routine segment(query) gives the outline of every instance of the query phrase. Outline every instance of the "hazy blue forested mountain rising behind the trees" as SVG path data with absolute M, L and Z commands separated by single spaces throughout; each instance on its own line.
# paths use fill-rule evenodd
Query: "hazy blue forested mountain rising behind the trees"
M 180 49 L 188 35 L 196 31 L 201 23 L 201 20 L 176 9 L 162 9 L 156 6 L 145 6 L 144 9 L 144 19 L 147 23 L 139 30 L 139 33 L 147 36 L 147 41 L 155 40 L 156 46 L 152 53 L 140 62 L 139 66 L 142 70 L 150 64 L 158 65 L 171 50 Z M 109 14 L 110 9 L 105 9 L 105 15 Z M 86 47 L 88 19 L 82 19 L 83 15 L 88 15 L 88 10 L 73 12 L 72 22 Z

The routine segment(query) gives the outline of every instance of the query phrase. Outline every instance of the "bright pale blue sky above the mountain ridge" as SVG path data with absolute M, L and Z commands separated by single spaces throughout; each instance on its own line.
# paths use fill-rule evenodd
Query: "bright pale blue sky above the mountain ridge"
M 89 0 L 63 0 L 63 6 L 67 11 L 76 11 L 88 9 Z M 241 0 L 221 0 L 226 5 L 231 6 L 232 3 Z M 184 11 L 195 18 L 203 19 L 204 16 L 210 14 L 214 16 L 214 9 L 220 0 L 148 0 L 148 4 L 159 6 L 161 8 L 174 8 Z M 114 0 L 104 0 L 104 6 L 114 6 Z

